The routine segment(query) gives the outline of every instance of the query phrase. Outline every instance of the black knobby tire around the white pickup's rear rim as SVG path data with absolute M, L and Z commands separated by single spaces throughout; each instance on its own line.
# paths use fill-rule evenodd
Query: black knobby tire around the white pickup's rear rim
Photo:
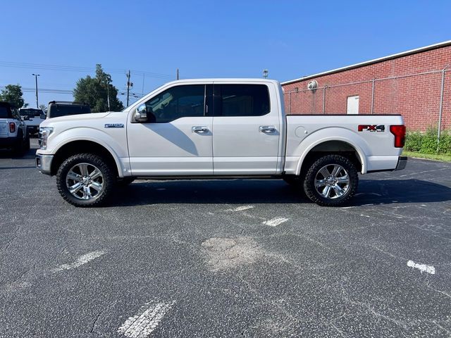
M 335 189 L 330 188 L 330 197 L 326 198 L 316 189 L 315 181 L 321 181 L 321 177 L 326 178 L 321 174 L 321 169 L 326 167 L 326 170 L 333 171 L 333 168 L 338 168 L 334 166 L 340 166 L 343 170 L 345 170 L 340 171 L 337 176 L 342 175 L 340 177 L 342 178 L 345 177 L 343 173 L 347 173 L 349 183 L 340 183 L 342 184 L 342 186 L 340 186 L 340 189 L 345 188 L 343 189 L 345 190 L 344 194 L 338 196 L 338 194 L 335 192 Z M 326 182 L 326 180 L 324 181 Z M 357 169 L 355 168 L 354 163 L 352 163 L 344 156 L 327 155 L 319 158 L 310 165 L 304 179 L 304 192 L 311 201 L 318 204 L 319 206 L 342 206 L 343 204 L 346 204 L 352 198 L 352 196 L 354 196 L 355 192 L 357 191 L 358 185 L 359 175 L 357 174 Z M 321 187 L 319 187 L 319 189 L 321 189 Z M 323 192 L 325 192 L 325 190 L 323 190 Z

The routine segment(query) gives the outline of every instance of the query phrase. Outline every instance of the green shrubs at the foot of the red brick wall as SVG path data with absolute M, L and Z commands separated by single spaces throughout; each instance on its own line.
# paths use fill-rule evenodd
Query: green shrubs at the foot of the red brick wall
M 423 154 L 451 154 L 451 131 L 443 130 L 440 133 L 438 149 L 437 128 L 429 127 L 426 132 L 408 131 L 404 149 Z

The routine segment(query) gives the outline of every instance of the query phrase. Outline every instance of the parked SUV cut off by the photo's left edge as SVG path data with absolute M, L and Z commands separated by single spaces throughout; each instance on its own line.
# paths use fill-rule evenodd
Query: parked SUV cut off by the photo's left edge
M 30 149 L 27 126 L 15 106 L 0 102 L 0 148 L 9 148 L 16 154 Z

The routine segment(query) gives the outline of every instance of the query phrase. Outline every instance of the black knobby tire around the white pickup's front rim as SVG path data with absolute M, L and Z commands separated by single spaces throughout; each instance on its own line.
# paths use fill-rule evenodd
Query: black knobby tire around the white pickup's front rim
M 75 165 L 87 163 L 97 168 L 102 175 L 102 191 L 99 195 L 95 196 L 93 199 L 80 199 L 70 193 L 66 178 Z M 58 187 L 58 192 L 61 194 L 63 199 L 73 206 L 80 207 L 92 207 L 101 206 L 109 199 L 116 187 L 116 173 L 114 173 L 111 165 L 105 161 L 100 156 L 94 154 L 75 154 L 70 156 L 66 161 L 64 161 L 58 168 L 56 173 L 56 186 Z

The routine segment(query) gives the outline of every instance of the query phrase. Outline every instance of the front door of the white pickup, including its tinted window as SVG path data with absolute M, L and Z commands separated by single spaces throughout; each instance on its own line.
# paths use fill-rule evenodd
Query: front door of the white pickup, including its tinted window
M 209 84 L 178 84 L 145 102 L 152 122 L 128 121 L 132 175 L 213 174 L 210 95 Z

